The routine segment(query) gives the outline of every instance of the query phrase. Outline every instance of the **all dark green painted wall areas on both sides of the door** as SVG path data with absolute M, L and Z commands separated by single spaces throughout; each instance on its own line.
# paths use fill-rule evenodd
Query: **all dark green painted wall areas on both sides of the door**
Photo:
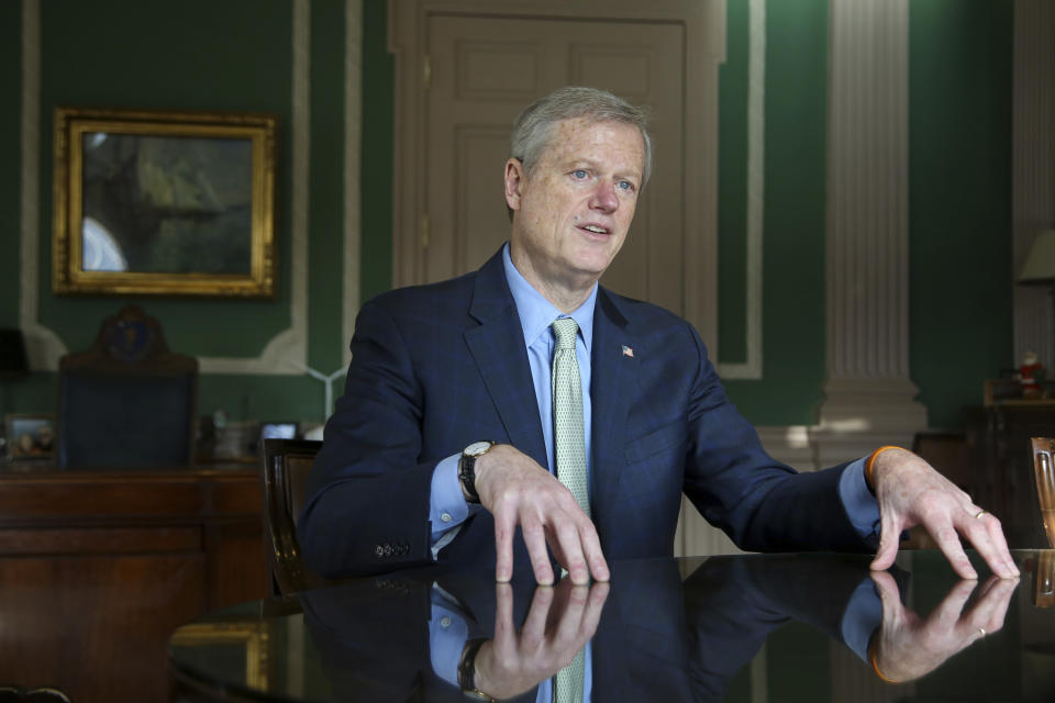
M 124 302 L 162 319 L 169 344 L 256 356 L 289 324 L 291 0 L 41 3 L 40 315 L 67 347 L 88 346 Z M 910 3 L 912 377 L 933 426 L 959 424 L 981 379 L 1012 365 L 1010 278 L 1011 7 Z M 252 19 L 249 21 L 249 19 Z M 720 360 L 746 356 L 747 0 L 728 0 L 720 74 Z M 21 3 L 0 3 L 0 323 L 18 324 Z M 311 2 L 309 364 L 340 366 L 344 3 Z M 364 0 L 359 294 L 391 286 L 392 59 L 386 3 Z M 768 2 L 765 82 L 764 379 L 731 380 L 759 424 L 810 424 L 824 380 L 828 0 Z M 104 40 L 102 38 L 104 37 Z M 165 51 L 158 51 L 165 47 Z M 51 293 L 52 110 L 58 104 L 271 112 L 279 118 L 276 301 L 57 298 Z M 663 165 L 659 164 L 659 168 Z M 54 410 L 54 375 L 3 382 L 2 410 Z M 202 375 L 200 410 L 320 420 L 304 377 Z

